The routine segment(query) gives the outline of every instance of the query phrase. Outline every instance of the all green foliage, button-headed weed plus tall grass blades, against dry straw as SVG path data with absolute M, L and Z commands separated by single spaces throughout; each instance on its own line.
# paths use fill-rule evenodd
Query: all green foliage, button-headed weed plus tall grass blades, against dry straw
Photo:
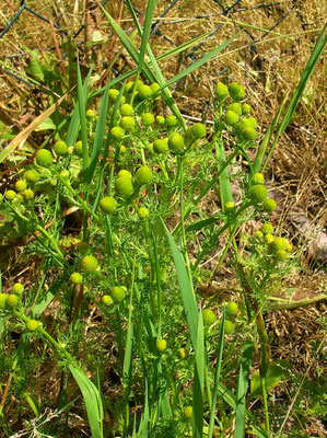
M 256 148 L 258 126 L 248 117 L 252 108 L 244 103 L 241 84 L 217 83 L 211 90 L 213 126 L 188 126 L 170 85 L 236 36 L 165 81 L 148 44 L 155 5 L 149 2 L 141 27 L 127 1 L 140 49 L 104 12 L 137 68 L 92 92 L 92 70 L 83 78 L 78 61 L 77 94 L 66 125 L 59 131 L 58 124 L 45 124 L 56 129 L 56 137 L 48 139 L 56 157 L 43 145 L 35 162 L 24 165 L 1 196 L 1 244 L 22 239 L 23 263 L 38 261 L 40 275 L 28 287 L 15 285 L 13 293 L 0 293 L 0 370 L 12 372 L 12 393 L 37 415 L 46 401 L 35 405 L 30 370 L 51 355 L 61 373 L 58 415 L 78 403 L 71 394 L 74 379 L 86 410 L 81 416 L 87 416 L 96 438 L 212 438 L 213 433 L 243 437 L 246 428 L 268 438 L 267 393 L 283 381 L 288 367 L 271 361 L 261 309 L 295 265 L 296 254 L 284 238 L 273 235 L 268 222 L 252 233 L 244 230 L 248 223 L 268 221 L 276 207 L 259 170 L 280 113 L 254 163 L 246 148 Z M 319 39 L 277 137 L 322 47 Z M 31 77 L 67 90 L 48 56 L 31 56 Z M 167 113 L 173 114 L 164 117 Z M 244 159 L 248 173 L 232 176 L 232 165 Z M 23 159 L 17 154 L 16 160 Z M 237 203 L 232 177 L 244 187 Z M 213 193 L 221 201 L 214 215 L 200 204 Z M 208 273 L 201 263 L 217 250 L 220 238 L 224 247 Z M 197 242 L 196 261 L 190 260 L 190 242 Z M 202 302 L 198 293 L 199 277 L 210 281 L 223 265 L 234 273 L 240 292 L 237 302 L 224 308 L 215 297 Z M 51 306 L 56 314 L 49 322 Z M 13 333 L 22 334 L 19 343 L 12 342 Z M 253 358 L 254 348 L 259 361 Z M 117 380 L 113 391 L 108 368 Z M 265 427 L 247 410 L 250 399 L 261 396 Z

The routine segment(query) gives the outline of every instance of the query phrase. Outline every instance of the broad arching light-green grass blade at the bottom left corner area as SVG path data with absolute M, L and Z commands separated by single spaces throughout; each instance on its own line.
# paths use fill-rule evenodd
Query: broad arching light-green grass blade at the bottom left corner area
M 73 365 L 69 369 L 75 379 L 86 406 L 92 438 L 103 438 L 103 406 L 101 394 L 91 380 Z

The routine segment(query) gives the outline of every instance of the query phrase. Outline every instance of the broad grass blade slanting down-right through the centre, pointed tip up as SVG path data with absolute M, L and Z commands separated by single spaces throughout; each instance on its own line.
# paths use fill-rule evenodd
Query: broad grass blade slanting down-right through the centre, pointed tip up
M 173 260 L 174 264 L 176 267 L 176 273 L 177 273 L 177 279 L 182 292 L 182 300 L 183 300 L 183 306 L 184 306 L 184 311 L 186 315 L 186 321 L 190 334 L 190 339 L 192 343 L 194 348 L 197 348 L 197 333 L 198 333 L 198 324 L 199 324 L 199 313 L 197 309 L 197 301 L 196 297 L 194 293 L 194 290 L 191 288 L 190 281 L 191 279 L 188 277 L 186 267 L 185 267 L 185 261 L 177 249 L 177 245 L 170 233 L 168 229 L 166 228 L 165 223 L 163 222 L 164 229 L 166 231 L 171 251 L 173 254 Z

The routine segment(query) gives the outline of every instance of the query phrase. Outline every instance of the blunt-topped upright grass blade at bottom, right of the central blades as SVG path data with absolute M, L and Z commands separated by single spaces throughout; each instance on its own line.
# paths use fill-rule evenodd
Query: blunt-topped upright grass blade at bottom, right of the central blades
M 254 353 L 254 344 L 246 343 L 241 358 L 238 383 L 236 391 L 236 422 L 235 422 L 235 438 L 244 438 L 245 435 L 245 407 L 246 407 L 246 391 L 249 380 L 249 370 L 252 357 Z

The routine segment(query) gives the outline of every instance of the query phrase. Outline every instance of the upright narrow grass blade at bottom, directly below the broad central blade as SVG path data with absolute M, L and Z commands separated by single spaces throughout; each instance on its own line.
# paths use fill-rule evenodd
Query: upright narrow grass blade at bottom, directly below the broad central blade
M 202 438 L 203 429 L 203 382 L 205 382 L 205 338 L 203 320 L 200 312 L 196 345 L 196 364 L 192 385 L 192 436 Z

